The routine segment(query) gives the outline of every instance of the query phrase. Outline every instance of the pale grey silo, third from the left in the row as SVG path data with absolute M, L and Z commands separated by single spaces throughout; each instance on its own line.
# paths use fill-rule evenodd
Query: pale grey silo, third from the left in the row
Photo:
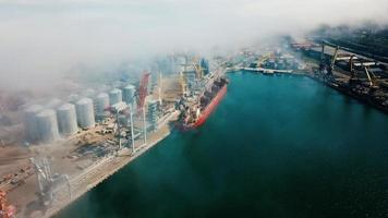
M 64 104 L 57 109 L 59 132 L 64 135 L 73 135 L 78 131 L 76 124 L 75 106 L 72 104 Z

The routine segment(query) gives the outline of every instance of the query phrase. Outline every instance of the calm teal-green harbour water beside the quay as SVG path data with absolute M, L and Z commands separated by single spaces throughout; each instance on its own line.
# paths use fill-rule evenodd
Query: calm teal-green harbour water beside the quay
M 59 217 L 388 217 L 388 116 L 308 78 L 230 78 L 203 128 Z

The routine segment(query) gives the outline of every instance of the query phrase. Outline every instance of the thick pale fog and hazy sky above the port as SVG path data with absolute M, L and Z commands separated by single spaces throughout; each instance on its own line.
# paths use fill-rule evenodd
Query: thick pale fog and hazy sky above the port
M 76 63 L 386 23 L 387 11 L 387 0 L 0 0 L 0 88 L 52 84 Z

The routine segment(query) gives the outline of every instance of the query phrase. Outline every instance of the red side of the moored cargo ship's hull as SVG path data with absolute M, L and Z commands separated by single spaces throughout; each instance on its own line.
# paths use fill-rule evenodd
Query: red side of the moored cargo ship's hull
M 227 90 L 228 90 L 228 85 L 223 85 L 222 88 L 217 93 L 217 95 L 209 102 L 209 105 L 206 106 L 205 110 L 199 114 L 198 120 L 191 125 L 186 125 L 184 129 L 190 130 L 203 125 L 206 122 L 206 120 L 210 117 L 211 112 L 217 108 L 219 102 L 222 100 L 222 98 L 227 94 Z

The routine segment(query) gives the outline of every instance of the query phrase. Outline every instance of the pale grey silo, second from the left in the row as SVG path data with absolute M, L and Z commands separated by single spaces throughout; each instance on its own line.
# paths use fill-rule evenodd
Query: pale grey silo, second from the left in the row
M 45 109 L 36 114 L 40 141 L 45 143 L 59 138 L 57 114 L 54 110 Z

